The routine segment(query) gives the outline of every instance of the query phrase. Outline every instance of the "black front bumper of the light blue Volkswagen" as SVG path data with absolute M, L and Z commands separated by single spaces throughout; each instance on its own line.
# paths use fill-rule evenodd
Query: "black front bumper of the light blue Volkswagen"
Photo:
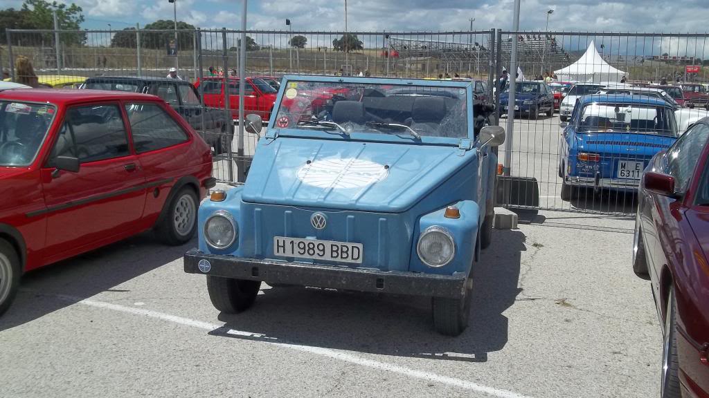
M 200 262 L 202 262 L 200 266 Z M 208 266 L 207 266 L 208 264 Z M 464 274 L 433 275 L 372 268 L 325 266 L 311 263 L 257 260 L 205 254 L 192 249 L 184 255 L 184 271 L 266 283 L 313 286 L 361 292 L 459 298 L 464 295 Z

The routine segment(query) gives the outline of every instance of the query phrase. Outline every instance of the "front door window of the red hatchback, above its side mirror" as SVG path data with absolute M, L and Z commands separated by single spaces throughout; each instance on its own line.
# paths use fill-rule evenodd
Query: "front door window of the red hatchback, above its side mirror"
M 82 163 L 125 157 L 130 154 L 128 135 L 117 105 L 69 108 L 48 166 L 58 156 L 77 157 Z

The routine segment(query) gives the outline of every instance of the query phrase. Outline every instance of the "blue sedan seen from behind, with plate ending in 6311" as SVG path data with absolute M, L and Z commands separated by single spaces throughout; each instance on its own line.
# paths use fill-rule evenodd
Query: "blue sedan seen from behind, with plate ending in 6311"
M 637 191 L 649 160 L 677 138 L 674 108 L 659 98 L 625 94 L 582 96 L 559 150 L 561 197 L 572 189 Z

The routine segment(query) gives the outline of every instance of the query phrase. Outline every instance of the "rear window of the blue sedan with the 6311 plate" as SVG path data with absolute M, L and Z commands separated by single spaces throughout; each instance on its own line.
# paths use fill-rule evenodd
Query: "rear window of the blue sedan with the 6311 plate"
M 634 103 L 588 104 L 581 111 L 578 131 L 677 136 L 670 108 Z

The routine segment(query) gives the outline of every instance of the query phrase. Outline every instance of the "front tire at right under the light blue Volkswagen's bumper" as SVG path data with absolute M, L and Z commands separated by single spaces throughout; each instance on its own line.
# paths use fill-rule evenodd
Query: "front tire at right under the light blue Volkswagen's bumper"
M 469 285 L 470 280 L 467 286 Z M 432 297 L 433 328 L 438 333 L 445 336 L 458 336 L 467 329 L 470 319 L 471 290 L 466 287 L 463 297 L 459 298 Z

